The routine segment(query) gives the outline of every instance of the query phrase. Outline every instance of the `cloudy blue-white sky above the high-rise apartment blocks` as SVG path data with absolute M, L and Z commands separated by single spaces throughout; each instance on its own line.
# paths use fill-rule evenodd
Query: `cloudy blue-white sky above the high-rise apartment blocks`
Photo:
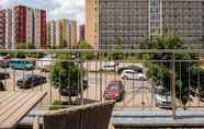
M 84 0 L 0 0 L 0 9 L 18 4 L 46 10 L 48 21 L 67 17 L 84 23 Z

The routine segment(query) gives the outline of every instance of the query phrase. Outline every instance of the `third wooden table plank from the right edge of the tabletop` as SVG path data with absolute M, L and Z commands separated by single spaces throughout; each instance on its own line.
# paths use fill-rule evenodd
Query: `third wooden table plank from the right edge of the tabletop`
M 5 97 L 5 99 L 3 99 L 0 104 L 0 109 L 2 109 L 4 106 L 8 106 L 8 104 L 10 104 L 10 102 L 14 102 L 18 97 L 20 97 L 22 93 L 14 93 L 14 94 L 10 94 L 8 97 Z

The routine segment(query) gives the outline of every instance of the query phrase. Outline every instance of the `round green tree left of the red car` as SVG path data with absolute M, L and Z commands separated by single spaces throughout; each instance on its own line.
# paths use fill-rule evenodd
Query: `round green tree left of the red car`
M 59 60 L 70 60 L 70 54 L 58 54 Z M 81 80 L 83 80 L 83 69 L 79 63 L 71 61 L 57 61 L 52 68 L 50 82 L 55 89 L 63 90 L 81 90 Z M 79 93 L 80 94 L 80 93 Z M 68 95 L 71 103 L 71 94 Z

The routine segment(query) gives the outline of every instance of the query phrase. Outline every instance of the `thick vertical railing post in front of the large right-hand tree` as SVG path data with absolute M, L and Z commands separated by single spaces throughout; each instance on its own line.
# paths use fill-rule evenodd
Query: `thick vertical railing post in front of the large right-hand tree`
M 172 54 L 172 85 L 171 85 L 171 105 L 172 105 L 172 118 L 175 119 L 175 57 Z

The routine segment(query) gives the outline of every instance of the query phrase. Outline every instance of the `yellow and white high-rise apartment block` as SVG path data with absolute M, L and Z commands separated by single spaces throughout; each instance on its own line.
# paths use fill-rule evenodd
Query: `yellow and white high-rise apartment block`
M 72 48 L 77 45 L 77 22 L 61 19 L 47 24 L 47 44 L 50 47 Z

